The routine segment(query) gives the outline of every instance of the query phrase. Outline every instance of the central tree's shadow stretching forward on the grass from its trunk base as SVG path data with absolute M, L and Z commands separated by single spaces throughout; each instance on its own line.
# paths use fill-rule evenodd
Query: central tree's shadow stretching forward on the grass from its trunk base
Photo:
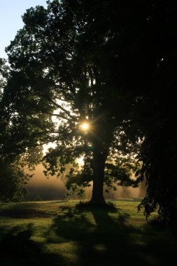
M 66 211 L 66 208 L 65 208 Z M 117 220 L 111 218 L 115 209 L 87 208 L 87 211 L 68 209 L 64 216 L 54 219 L 50 230 L 58 237 L 77 244 L 78 265 L 129 265 L 134 258 L 134 243 L 129 241 L 127 228 L 124 224 L 128 214 L 119 214 Z M 52 239 L 48 238 L 48 241 Z M 133 257 L 133 258 L 132 258 Z M 136 257 L 137 258 L 137 257 Z M 139 262 L 144 260 L 139 258 Z

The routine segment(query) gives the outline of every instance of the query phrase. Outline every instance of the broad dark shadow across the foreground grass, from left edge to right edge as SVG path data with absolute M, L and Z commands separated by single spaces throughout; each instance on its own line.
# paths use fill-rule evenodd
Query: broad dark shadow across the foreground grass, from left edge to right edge
M 19 227 L 0 228 L 0 265 L 173 265 L 176 249 L 167 237 L 150 225 L 129 225 L 129 218 L 115 207 L 62 206 L 43 232 L 43 244 L 31 240 L 33 223 L 21 232 Z

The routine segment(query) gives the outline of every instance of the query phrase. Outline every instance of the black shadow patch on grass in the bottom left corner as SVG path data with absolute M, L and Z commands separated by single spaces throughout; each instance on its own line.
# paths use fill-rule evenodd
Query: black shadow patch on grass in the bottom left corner
M 57 265 L 64 265 L 62 257 L 43 252 L 43 248 L 30 239 L 32 235 L 32 224 L 29 224 L 27 230 L 18 232 L 19 230 L 20 227 L 14 227 L 1 237 L 1 266 L 51 265 L 52 261 L 57 261 Z M 1 228 L 2 232 L 3 230 Z M 18 232 L 17 235 L 14 235 L 15 232 Z

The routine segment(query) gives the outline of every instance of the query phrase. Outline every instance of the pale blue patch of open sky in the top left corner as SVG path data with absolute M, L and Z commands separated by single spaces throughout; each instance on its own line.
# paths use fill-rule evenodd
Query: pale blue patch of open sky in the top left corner
M 0 57 L 7 57 L 4 49 L 23 27 L 26 9 L 37 5 L 46 6 L 46 0 L 0 0 Z

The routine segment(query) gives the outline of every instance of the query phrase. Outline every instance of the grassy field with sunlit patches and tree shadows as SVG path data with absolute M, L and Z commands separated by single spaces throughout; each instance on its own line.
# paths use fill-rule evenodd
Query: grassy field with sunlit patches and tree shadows
M 0 265 L 174 265 L 176 241 L 137 213 L 139 202 L 76 203 L 1 203 Z

